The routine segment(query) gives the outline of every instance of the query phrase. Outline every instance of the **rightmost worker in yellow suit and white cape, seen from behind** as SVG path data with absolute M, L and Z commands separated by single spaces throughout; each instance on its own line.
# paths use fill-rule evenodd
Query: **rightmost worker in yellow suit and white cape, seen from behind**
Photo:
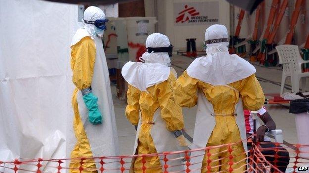
M 243 58 L 229 54 L 224 25 L 210 26 L 205 40 L 207 56 L 196 58 L 177 79 L 175 97 L 181 106 L 198 105 L 192 149 L 235 143 L 231 146 L 231 169 L 233 173 L 242 173 L 246 169 L 247 150 L 243 107 L 260 109 L 264 93 L 255 77 L 256 69 Z M 210 158 L 207 151 L 193 152 L 191 163 L 197 164 L 190 169 L 198 169 L 194 173 L 228 173 L 227 149 L 210 149 Z

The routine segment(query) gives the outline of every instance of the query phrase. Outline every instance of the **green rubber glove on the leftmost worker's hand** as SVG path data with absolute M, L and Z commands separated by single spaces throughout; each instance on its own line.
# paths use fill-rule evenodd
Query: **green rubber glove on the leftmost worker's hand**
M 98 109 L 98 97 L 93 95 L 92 93 L 88 93 L 83 96 L 83 100 L 88 108 L 88 116 L 89 122 L 93 125 L 101 124 L 102 123 L 102 116 Z

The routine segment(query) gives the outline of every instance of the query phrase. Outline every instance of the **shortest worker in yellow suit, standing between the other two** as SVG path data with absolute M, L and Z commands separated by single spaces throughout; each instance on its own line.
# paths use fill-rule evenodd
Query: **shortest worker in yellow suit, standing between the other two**
M 137 128 L 134 154 L 187 150 L 182 134 L 184 127 L 181 107 L 175 102 L 173 84 L 176 72 L 170 65 L 172 45 L 167 36 L 153 33 L 146 40 L 147 52 L 141 62 L 128 62 L 122 75 L 128 82 L 127 119 Z M 176 138 L 175 138 L 176 137 Z M 180 146 L 180 147 L 179 147 Z M 162 173 L 163 156 L 145 157 L 146 173 Z M 167 171 L 184 170 L 184 154 L 168 155 Z M 178 158 L 178 159 L 176 159 Z M 178 166 L 177 166 L 178 165 Z M 133 168 L 132 168 L 133 167 Z M 132 160 L 132 172 L 143 173 L 142 157 Z

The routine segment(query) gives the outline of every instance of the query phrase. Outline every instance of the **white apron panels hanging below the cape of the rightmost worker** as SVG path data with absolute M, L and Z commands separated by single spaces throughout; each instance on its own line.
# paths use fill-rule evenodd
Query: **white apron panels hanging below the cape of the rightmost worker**
M 227 86 L 227 85 L 226 85 Z M 232 88 L 230 86 L 227 86 Z M 235 90 L 235 89 L 234 89 Z M 240 137 L 243 142 L 244 150 L 247 151 L 247 140 L 246 140 L 246 128 L 245 128 L 245 117 L 243 111 L 243 104 L 241 98 L 235 106 L 236 124 L 239 128 Z M 198 110 L 195 120 L 193 142 L 191 149 L 205 148 L 208 143 L 208 139 L 215 127 L 216 121 L 214 109 L 212 104 L 206 99 L 202 91 L 198 91 Z M 201 173 L 202 161 L 204 158 L 205 150 L 196 151 L 191 153 L 191 163 L 197 163 L 190 166 L 192 173 Z M 198 157 L 197 157 L 198 156 Z

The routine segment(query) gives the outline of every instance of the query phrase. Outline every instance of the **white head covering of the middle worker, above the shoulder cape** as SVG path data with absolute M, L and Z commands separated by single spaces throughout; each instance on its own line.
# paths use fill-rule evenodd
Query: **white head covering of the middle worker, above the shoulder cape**
M 169 39 L 161 33 L 153 33 L 146 39 L 146 48 L 168 47 L 169 45 Z M 167 52 L 145 52 L 140 59 L 145 63 L 160 63 L 165 66 L 170 66 L 170 58 Z

